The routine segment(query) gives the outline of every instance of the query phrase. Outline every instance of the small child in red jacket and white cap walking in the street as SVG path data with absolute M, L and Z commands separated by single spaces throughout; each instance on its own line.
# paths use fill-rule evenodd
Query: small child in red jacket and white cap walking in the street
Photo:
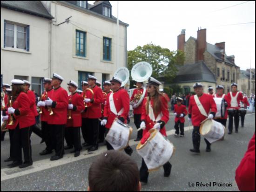
M 174 116 L 175 116 L 175 137 L 179 136 L 180 130 L 181 130 L 181 137 L 184 137 L 184 122 L 185 122 L 185 116 L 188 114 L 188 111 L 186 109 L 186 106 L 182 105 L 183 99 L 180 97 L 176 98 L 176 103 L 174 105 Z M 180 130 L 179 130 L 179 124 L 180 124 Z

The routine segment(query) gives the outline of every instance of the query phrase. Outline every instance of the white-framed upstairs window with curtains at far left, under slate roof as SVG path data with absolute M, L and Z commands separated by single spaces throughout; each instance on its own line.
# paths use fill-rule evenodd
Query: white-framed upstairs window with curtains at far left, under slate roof
M 29 26 L 4 22 L 4 47 L 29 51 Z

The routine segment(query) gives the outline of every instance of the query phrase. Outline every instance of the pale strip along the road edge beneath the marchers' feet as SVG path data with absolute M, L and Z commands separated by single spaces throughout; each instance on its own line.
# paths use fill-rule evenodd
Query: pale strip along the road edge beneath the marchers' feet
M 252 114 L 255 115 L 255 113 L 250 113 L 250 114 L 246 114 L 246 116 L 252 115 Z M 189 131 L 191 129 L 193 129 L 192 125 L 184 127 L 184 131 Z M 175 129 L 172 129 L 172 130 L 169 130 L 166 132 L 167 136 L 173 135 L 174 133 L 175 133 Z M 134 141 L 134 139 L 129 140 L 129 146 L 134 146 L 134 145 L 137 145 L 138 143 L 139 143 L 139 141 Z M 3 169 L 1 169 L 1 181 L 20 177 L 20 176 L 27 175 L 27 174 L 34 173 L 34 172 L 43 171 L 43 170 L 50 169 L 50 168 L 53 168 L 56 166 L 65 165 L 67 163 L 71 163 L 71 162 L 78 161 L 81 159 L 87 159 L 90 157 L 94 157 L 96 155 L 101 154 L 102 152 L 107 152 L 106 146 L 99 147 L 99 149 L 92 154 L 88 154 L 87 151 L 82 151 L 80 156 L 78 156 L 78 157 L 74 157 L 74 153 L 68 153 L 68 154 L 65 154 L 62 159 L 59 159 L 56 161 L 51 161 L 50 159 L 43 159 L 43 160 L 35 161 L 35 162 L 33 162 L 33 166 L 29 166 L 25 169 L 24 168 L 20 169 L 19 167 L 3 168 Z

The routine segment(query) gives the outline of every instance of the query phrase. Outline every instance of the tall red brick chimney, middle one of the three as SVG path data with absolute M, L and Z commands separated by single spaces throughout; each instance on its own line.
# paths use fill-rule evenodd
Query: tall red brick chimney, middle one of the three
M 197 31 L 197 60 L 204 60 L 203 53 L 206 50 L 206 29 Z

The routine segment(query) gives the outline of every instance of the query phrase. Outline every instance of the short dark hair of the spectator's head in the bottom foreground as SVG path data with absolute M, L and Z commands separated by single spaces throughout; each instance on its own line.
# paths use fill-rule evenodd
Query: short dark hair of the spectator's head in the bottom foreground
M 90 191 L 138 191 L 139 169 L 127 154 L 102 153 L 89 169 Z

